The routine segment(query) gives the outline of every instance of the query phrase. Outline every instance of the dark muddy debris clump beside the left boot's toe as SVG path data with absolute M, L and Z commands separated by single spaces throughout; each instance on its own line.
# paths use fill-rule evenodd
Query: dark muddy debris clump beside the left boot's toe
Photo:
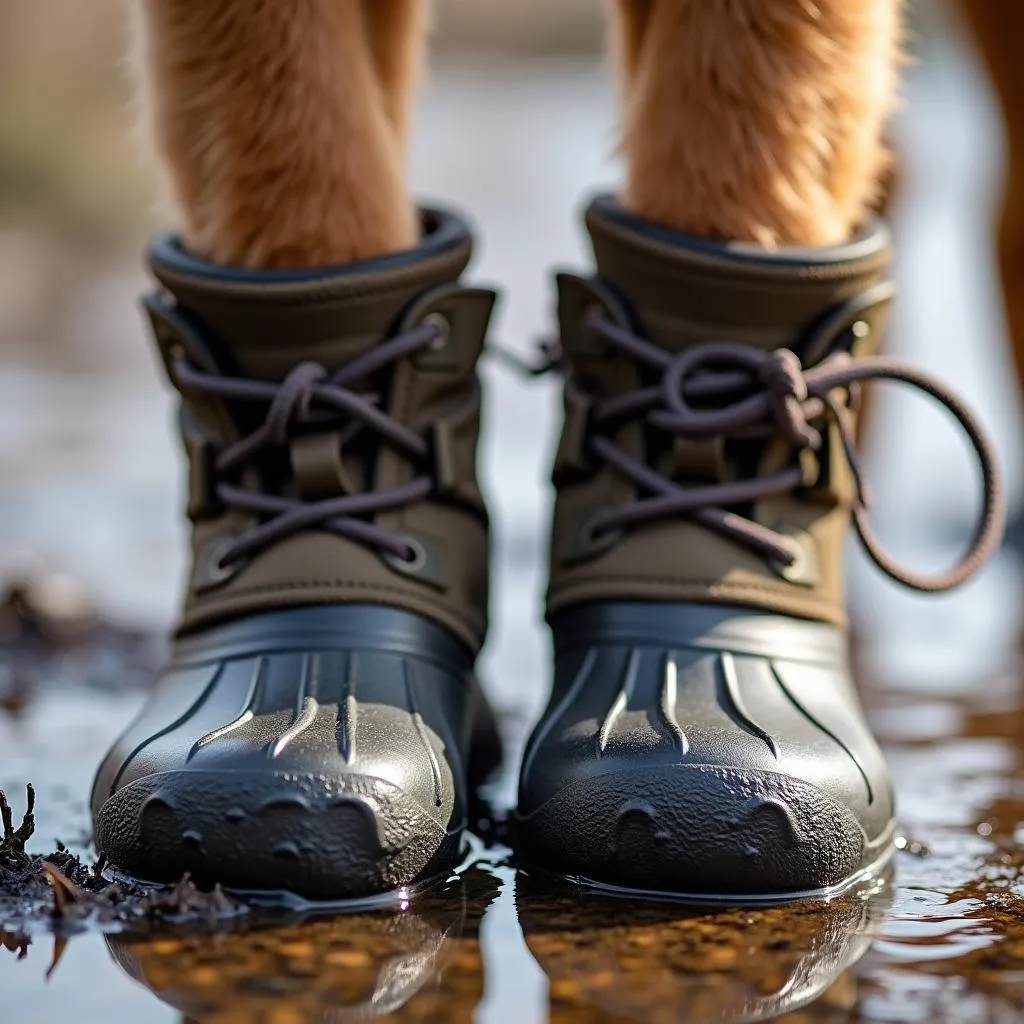
M 219 886 L 201 890 L 188 876 L 172 888 L 152 888 L 109 877 L 105 858 L 85 863 L 57 843 L 52 853 L 27 849 L 35 831 L 36 794 L 27 786 L 20 824 L 0 790 L 0 945 L 18 955 L 32 931 L 80 931 L 86 924 L 109 931 L 146 932 L 167 926 L 221 928 L 248 912 Z

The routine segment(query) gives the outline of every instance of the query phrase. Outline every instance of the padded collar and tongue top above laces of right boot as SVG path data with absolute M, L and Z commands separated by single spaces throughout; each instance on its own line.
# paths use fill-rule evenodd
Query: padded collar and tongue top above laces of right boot
M 718 340 L 797 347 L 829 311 L 884 281 L 891 259 L 878 222 L 846 245 L 767 252 L 662 227 L 610 197 L 586 216 L 598 275 L 645 337 L 673 352 Z

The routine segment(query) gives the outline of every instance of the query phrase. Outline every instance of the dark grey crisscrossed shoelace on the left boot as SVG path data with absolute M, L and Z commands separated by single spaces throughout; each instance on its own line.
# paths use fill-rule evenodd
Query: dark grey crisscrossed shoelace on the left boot
M 318 362 L 300 362 L 280 383 L 205 373 L 184 357 L 174 362 L 174 379 L 185 393 L 194 391 L 225 401 L 267 407 L 266 418 L 256 430 L 220 452 L 214 465 L 218 477 L 238 476 L 265 447 L 287 446 L 296 427 L 308 424 L 330 427 L 336 422 L 341 443 L 350 441 L 362 430 L 372 430 L 393 449 L 418 460 L 429 454 L 427 441 L 388 416 L 380 408 L 380 395 L 351 388 L 385 367 L 429 348 L 439 336 L 436 325 L 424 324 L 381 342 L 333 374 Z M 409 542 L 401 535 L 376 525 L 369 517 L 422 501 L 433 488 L 433 478 L 421 475 L 395 487 L 304 502 L 259 494 L 218 479 L 216 494 L 222 505 L 264 520 L 221 551 L 220 565 L 237 562 L 284 538 L 313 528 L 411 560 L 416 553 Z

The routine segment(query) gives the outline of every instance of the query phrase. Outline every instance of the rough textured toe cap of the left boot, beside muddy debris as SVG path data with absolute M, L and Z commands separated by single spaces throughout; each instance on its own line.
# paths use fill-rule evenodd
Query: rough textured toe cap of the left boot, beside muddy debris
M 408 793 L 351 774 L 161 772 L 118 790 L 95 826 L 111 860 L 150 881 L 187 871 L 200 883 L 321 899 L 429 878 L 458 846 L 458 831 Z

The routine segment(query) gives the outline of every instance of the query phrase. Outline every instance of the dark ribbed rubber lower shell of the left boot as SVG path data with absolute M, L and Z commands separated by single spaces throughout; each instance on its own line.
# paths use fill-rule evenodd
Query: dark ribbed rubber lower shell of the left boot
M 153 882 L 319 899 L 446 873 L 500 760 L 472 669 L 444 630 L 375 606 L 183 639 L 99 769 L 96 846 Z

